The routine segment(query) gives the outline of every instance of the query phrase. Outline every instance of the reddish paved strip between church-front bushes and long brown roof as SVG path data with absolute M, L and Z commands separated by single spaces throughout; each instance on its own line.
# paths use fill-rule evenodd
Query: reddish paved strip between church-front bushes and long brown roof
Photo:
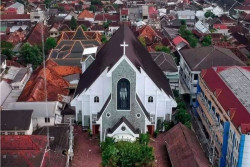
M 155 152 L 155 164 L 157 167 L 171 167 L 171 162 L 168 157 L 166 143 L 164 141 L 164 133 L 161 133 L 157 138 L 150 140 L 150 145 L 154 147 Z

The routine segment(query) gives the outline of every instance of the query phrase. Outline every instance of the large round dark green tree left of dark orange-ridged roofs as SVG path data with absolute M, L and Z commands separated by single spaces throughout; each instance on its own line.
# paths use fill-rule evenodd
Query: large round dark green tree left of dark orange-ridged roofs
M 37 46 L 31 46 L 25 43 L 20 51 L 20 59 L 25 64 L 32 64 L 34 69 L 39 66 L 42 61 L 42 53 Z

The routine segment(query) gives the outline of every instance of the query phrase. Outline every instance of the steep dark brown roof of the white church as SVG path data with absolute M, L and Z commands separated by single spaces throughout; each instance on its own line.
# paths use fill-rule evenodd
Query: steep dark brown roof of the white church
M 172 96 L 172 91 L 165 75 L 126 25 L 122 25 L 97 53 L 95 61 L 81 75 L 74 96 L 88 89 L 107 67 L 111 69 L 115 65 L 123 55 L 123 49 L 120 44 L 124 41 L 129 45 L 126 49 L 126 56 L 133 65 L 138 70 L 142 68 L 159 89 L 163 89 L 166 94 Z

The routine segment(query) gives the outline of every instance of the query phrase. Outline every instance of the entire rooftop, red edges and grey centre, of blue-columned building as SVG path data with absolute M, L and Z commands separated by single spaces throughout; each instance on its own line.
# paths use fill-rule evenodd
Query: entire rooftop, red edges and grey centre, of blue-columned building
M 238 129 L 250 122 L 250 67 L 213 67 L 202 70 L 201 77 Z M 246 99 L 243 99 L 246 98 Z

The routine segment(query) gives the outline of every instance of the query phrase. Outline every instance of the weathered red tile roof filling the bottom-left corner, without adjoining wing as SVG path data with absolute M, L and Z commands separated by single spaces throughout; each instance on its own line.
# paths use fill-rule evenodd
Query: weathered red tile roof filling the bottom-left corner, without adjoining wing
M 40 166 L 47 146 L 46 136 L 1 136 L 1 164 L 3 166 Z M 5 158 L 3 158 L 5 156 Z

